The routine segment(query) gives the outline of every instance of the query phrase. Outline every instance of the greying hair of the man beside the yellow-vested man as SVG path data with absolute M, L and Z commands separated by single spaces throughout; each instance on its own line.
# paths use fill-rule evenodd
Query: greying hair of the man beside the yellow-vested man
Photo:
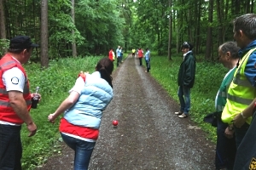
M 230 52 L 231 58 L 238 59 L 238 51 L 239 47 L 237 47 L 236 42 L 224 42 L 222 45 L 218 47 L 218 50 L 220 50 L 223 54 L 226 54 L 227 52 Z

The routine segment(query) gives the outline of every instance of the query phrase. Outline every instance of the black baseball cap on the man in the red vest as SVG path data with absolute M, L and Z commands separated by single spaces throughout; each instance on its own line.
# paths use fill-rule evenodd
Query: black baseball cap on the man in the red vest
M 13 37 L 9 42 L 9 48 L 11 49 L 26 49 L 26 48 L 38 48 L 39 45 L 32 43 L 28 36 Z

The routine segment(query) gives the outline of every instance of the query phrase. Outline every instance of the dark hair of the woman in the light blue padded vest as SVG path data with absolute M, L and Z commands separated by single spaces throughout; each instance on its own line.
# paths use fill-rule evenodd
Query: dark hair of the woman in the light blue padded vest
M 101 73 L 101 77 L 113 88 L 111 74 L 113 72 L 113 62 L 108 58 L 102 58 L 96 65 L 96 71 Z

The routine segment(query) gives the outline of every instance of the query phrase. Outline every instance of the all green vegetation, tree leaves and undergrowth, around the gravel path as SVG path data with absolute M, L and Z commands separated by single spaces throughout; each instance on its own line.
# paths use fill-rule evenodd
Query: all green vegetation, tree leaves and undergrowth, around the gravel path
M 0 11 L 4 14 L 0 14 L 1 55 L 9 46 L 8 40 L 17 35 L 30 36 L 32 42 L 40 44 L 42 1 L 0 1 Z M 40 48 L 34 50 L 31 62 L 25 65 L 31 89 L 39 86 L 43 98 L 38 109 L 32 110 L 38 125 L 37 135 L 27 138 L 26 127 L 22 128 L 24 169 L 44 163 L 52 152 L 61 152 L 58 123 L 50 124 L 47 116 L 67 97 L 79 71 L 93 71 L 99 56 L 107 56 L 109 48 L 115 49 L 118 45 L 127 52 L 131 52 L 131 48 L 155 51 L 150 74 L 177 99 L 177 69 L 182 59 L 180 44 L 183 41 L 194 44 L 198 62 L 191 93 L 191 118 L 214 141 L 215 129 L 202 122 L 203 116 L 214 111 L 215 95 L 226 72 L 214 58 L 218 45 L 233 40 L 230 22 L 241 14 L 255 13 L 254 3 L 255 0 L 75 0 L 73 22 L 70 0 L 48 1 L 49 68 L 41 68 L 38 63 L 42 58 Z M 70 58 L 73 39 L 77 58 Z M 209 47 L 207 40 L 211 41 Z M 169 41 L 172 60 L 166 57 Z M 208 54 L 207 48 L 211 49 Z

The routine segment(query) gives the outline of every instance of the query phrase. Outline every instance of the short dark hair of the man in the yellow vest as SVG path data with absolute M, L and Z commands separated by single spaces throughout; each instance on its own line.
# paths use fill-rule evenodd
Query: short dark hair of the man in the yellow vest
M 233 20 L 234 31 L 243 31 L 251 40 L 256 39 L 256 14 L 243 14 Z

